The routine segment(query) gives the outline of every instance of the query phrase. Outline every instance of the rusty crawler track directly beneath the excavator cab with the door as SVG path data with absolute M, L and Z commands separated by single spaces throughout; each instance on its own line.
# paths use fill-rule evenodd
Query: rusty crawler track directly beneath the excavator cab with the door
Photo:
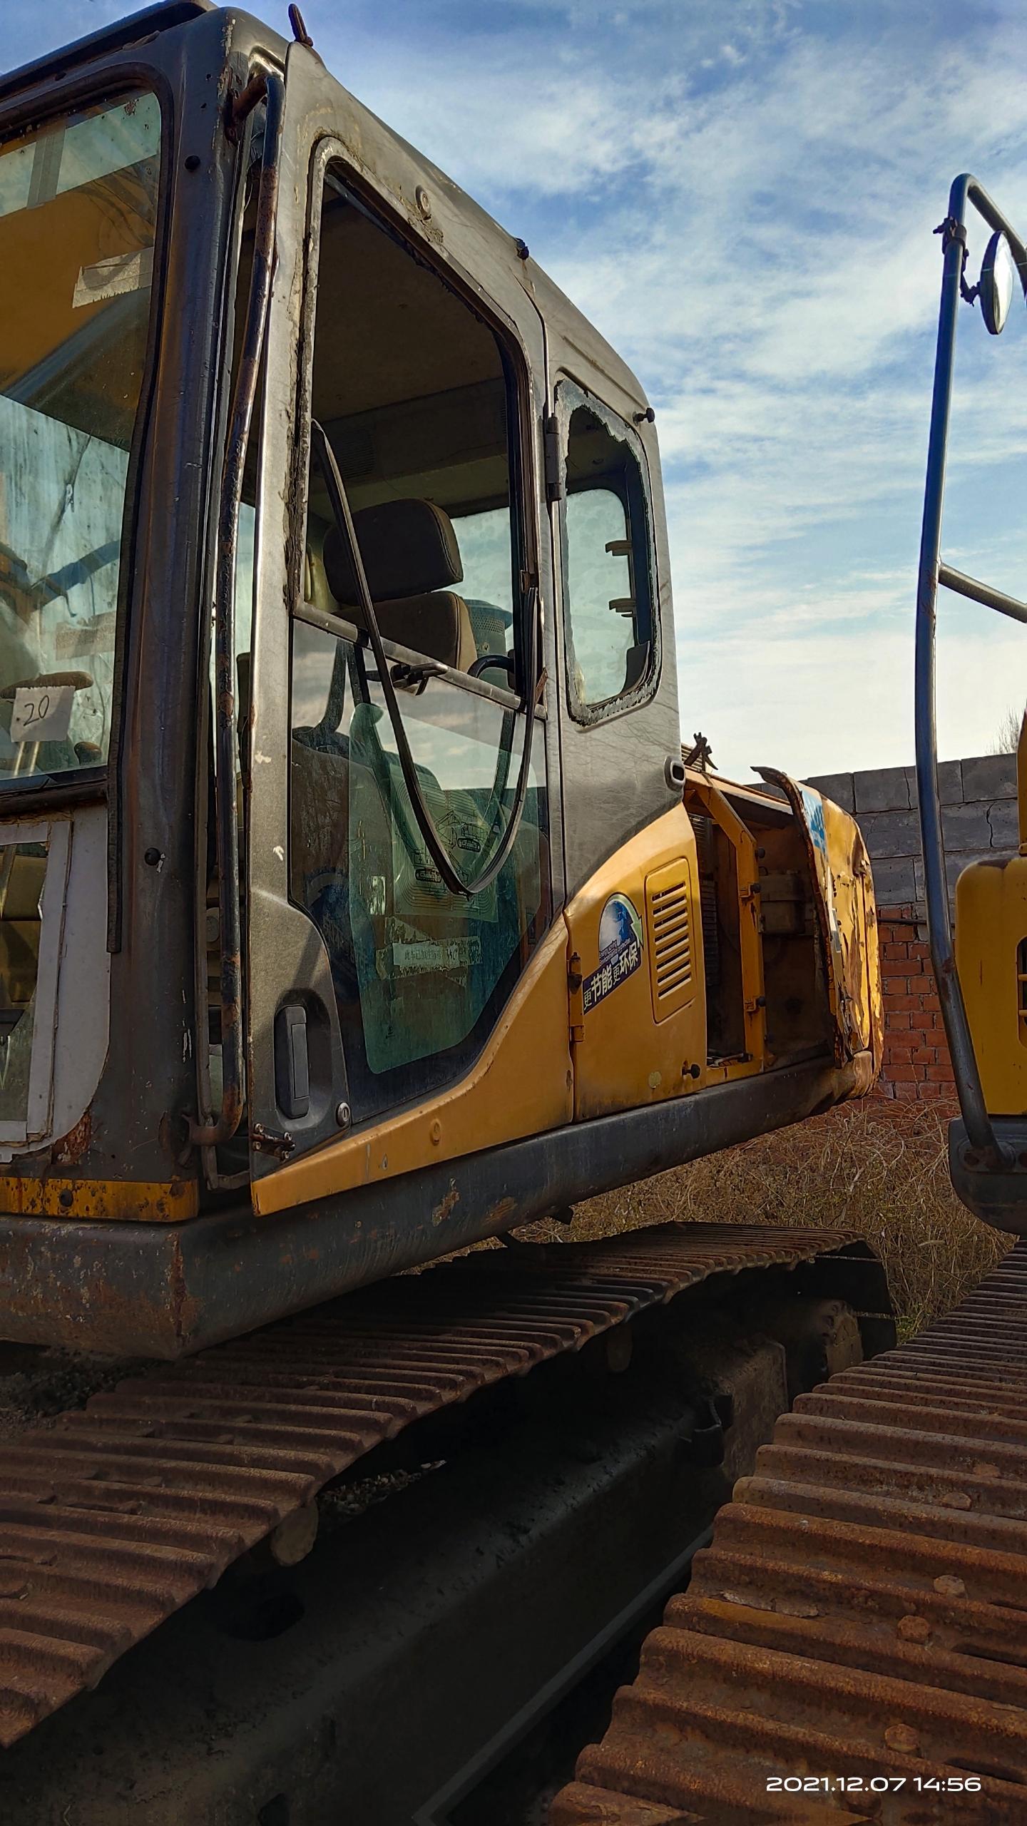
M 824 1256 L 844 1233 L 663 1225 L 479 1251 L 93 1395 L 4 1452 L 0 1744 L 13 1744 L 334 1477 L 466 1401 L 713 1276 Z M 844 1286 L 841 1287 L 846 1296 Z

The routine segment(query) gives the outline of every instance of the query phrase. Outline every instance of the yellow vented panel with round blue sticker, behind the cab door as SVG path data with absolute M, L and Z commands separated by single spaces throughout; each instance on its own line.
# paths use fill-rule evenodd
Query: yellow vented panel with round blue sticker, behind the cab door
M 568 906 L 566 926 L 572 981 L 581 979 L 572 1002 L 576 1119 L 640 1108 L 704 1085 L 698 858 L 683 805 L 656 818 L 596 871 Z

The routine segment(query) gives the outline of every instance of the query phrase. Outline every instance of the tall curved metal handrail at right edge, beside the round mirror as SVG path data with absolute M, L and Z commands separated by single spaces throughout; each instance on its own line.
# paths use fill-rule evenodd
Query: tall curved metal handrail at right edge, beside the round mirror
M 967 261 L 967 205 L 983 215 L 990 228 L 1000 228 L 1011 247 L 1020 283 L 1027 299 L 1027 248 L 1020 236 L 1007 223 L 987 190 L 963 172 L 954 179 L 948 192 L 948 217 L 941 223 L 943 234 L 943 274 L 941 307 L 937 320 L 937 352 L 934 360 L 934 394 L 930 402 L 930 438 L 926 451 L 926 482 L 923 500 L 923 533 L 919 548 L 917 577 L 917 619 L 916 619 L 916 765 L 919 825 L 923 845 L 923 884 L 926 902 L 926 924 L 930 933 L 930 955 L 937 979 L 937 997 L 952 1055 L 952 1072 L 967 1139 L 970 1149 L 981 1156 L 983 1165 L 1005 1167 L 1012 1163 L 1012 1150 L 996 1136 L 981 1086 L 981 1074 L 974 1054 L 967 1004 L 956 970 L 956 951 L 952 946 L 952 920 L 948 915 L 948 886 L 945 880 L 945 845 L 941 834 L 941 802 L 937 794 L 937 729 L 936 729 L 936 628 L 937 628 L 937 586 L 939 582 L 967 595 L 985 608 L 994 608 L 1016 621 L 1027 621 L 1027 606 L 1001 590 L 965 577 L 941 562 L 941 509 L 945 498 L 945 456 L 948 440 L 948 413 L 952 404 L 952 373 L 956 356 L 956 318 L 959 298 L 963 296 L 963 267 Z

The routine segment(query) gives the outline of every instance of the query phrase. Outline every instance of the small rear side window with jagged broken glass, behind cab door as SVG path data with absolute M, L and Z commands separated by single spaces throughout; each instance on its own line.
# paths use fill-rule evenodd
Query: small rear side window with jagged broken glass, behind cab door
M 559 389 L 566 438 L 563 592 L 568 696 L 579 721 L 640 701 L 656 683 L 651 520 L 634 440 L 599 402 Z

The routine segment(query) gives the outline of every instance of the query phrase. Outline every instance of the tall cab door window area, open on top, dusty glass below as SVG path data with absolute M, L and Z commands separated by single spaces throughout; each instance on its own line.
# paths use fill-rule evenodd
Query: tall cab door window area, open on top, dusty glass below
M 329 166 L 311 411 L 345 482 L 420 794 L 468 882 L 510 827 L 528 729 L 512 360 Z M 503 867 L 481 893 L 450 893 L 358 595 L 314 466 L 292 623 L 289 873 L 331 960 L 356 1123 L 468 1070 L 550 922 L 541 718 Z

